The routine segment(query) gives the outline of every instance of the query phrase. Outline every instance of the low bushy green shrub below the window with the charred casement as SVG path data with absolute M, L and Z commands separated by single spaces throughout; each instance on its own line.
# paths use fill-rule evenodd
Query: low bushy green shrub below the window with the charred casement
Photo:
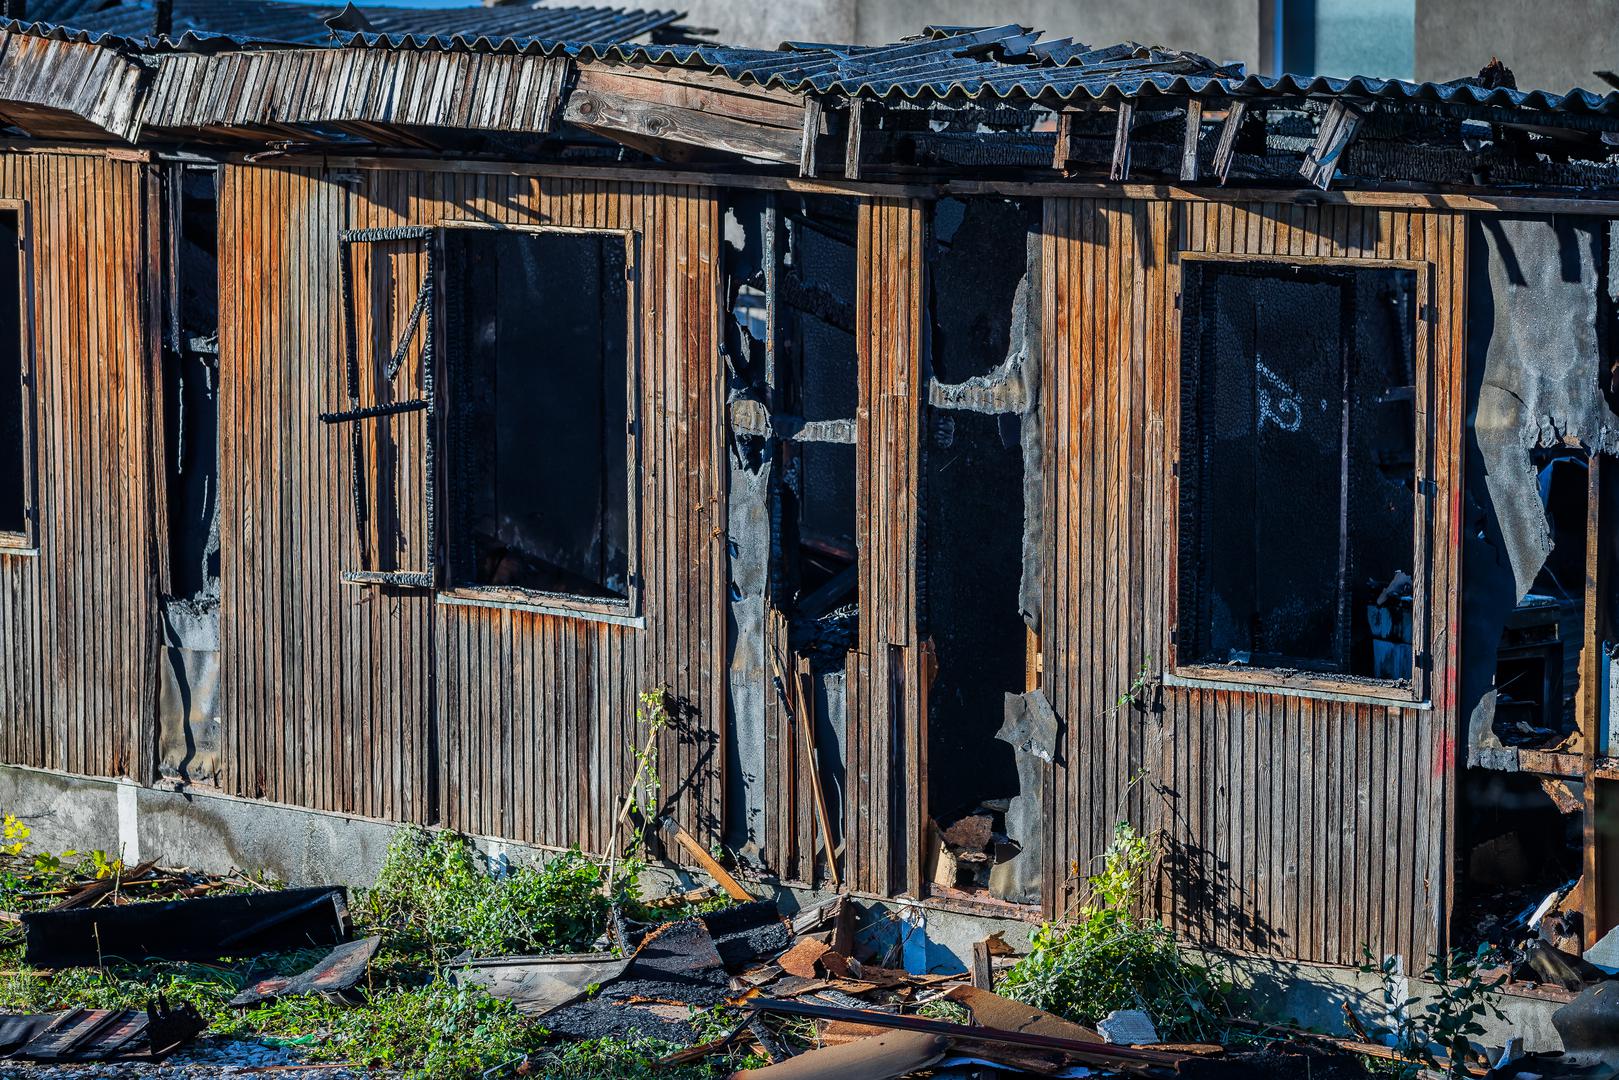
M 495 874 L 482 853 L 453 832 L 405 829 L 389 845 L 377 884 L 359 900 L 361 921 L 389 931 L 395 949 L 436 959 L 471 949 L 581 952 L 601 936 L 612 910 L 602 870 L 578 852 L 542 866 Z M 620 874 L 620 899 L 635 876 Z

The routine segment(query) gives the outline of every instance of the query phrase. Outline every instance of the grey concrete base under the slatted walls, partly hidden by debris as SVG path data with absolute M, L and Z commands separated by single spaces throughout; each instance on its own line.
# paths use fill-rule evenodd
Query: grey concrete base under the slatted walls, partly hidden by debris
M 23 819 L 40 850 L 66 848 L 121 853 L 126 863 L 155 858 L 167 866 L 191 866 L 207 873 L 244 870 L 288 884 L 369 886 L 382 866 L 398 824 L 346 818 L 296 806 L 278 806 L 227 795 L 146 789 L 128 780 L 102 780 L 18 766 L 0 766 L 0 811 Z M 492 857 L 516 865 L 542 860 L 550 852 L 473 837 Z M 651 868 L 643 878 L 657 895 L 696 884 L 680 870 Z M 787 913 L 827 899 L 827 892 L 769 889 Z M 989 918 L 928 905 L 869 902 L 858 928 L 861 944 L 886 949 L 899 941 L 902 962 L 913 972 L 962 972 L 975 941 L 1002 933 L 1013 949 L 1026 949 L 1033 923 Z M 1256 1018 L 1297 1023 L 1319 1031 L 1345 1033 L 1342 1006 L 1368 1027 L 1392 1027 L 1375 975 L 1350 968 L 1290 963 L 1282 960 L 1208 954 L 1203 962 L 1221 968 L 1251 999 Z M 1434 988 L 1420 980 L 1396 988 L 1396 1001 L 1431 997 Z M 1507 1020 L 1486 1020 L 1480 1040 L 1499 1046 L 1509 1033 L 1523 1038 L 1528 1051 L 1561 1049 L 1551 1027 L 1559 1002 L 1498 994 Z

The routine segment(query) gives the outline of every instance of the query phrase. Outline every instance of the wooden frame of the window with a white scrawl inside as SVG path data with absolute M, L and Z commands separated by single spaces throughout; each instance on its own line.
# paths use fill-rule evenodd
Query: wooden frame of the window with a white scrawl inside
M 1410 683 L 1368 677 L 1342 677 L 1323 672 L 1284 670 L 1274 667 L 1234 667 L 1227 664 L 1182 662 L 1177 633 L 1180 628 L 1180 439 L 1185 423 L 1182 402 L 1185 304 L 1185 262 L 1200 264 L 1273 264 L 1297 266 L 1316 270 L 1410 270 L 1417 282 L 1413 351 L 1417 359 L 1415 411 L 1415 486 L 1417 500 L 1412 513 L 1413 568 L 1412 568 L 1412 677 Z M 1167 335 L 1171 385 L 1167 393 L 1175 405 L 1175 423 L 1169 424 L 1166 444 L 1169 449 L 1169 538 L 1167 538 L 1167 619 L 1164 620 L 1164 656 L 1167 667 L 1164 682 L 1180 687 L 1209 687 L 1219 690 L 1247 690 L 1305 698 L 1350 699 L 1366 704 L 1396 708 L 1428 708 L 1433 678 L 1428 615 L 1431 610 L 1430 578 L 1433 576 L 1433 504 L 1434 504 L 1434 426 L 1433 426 L 1433 264 L 1413 259 L 1353 259 L 1341 256 L 1284 256 L 1284 254 L 1234 254 L 1213 251 L 1180 251 L 1171 262 L 1171 282 L 1175 304 L 1171 309 Z

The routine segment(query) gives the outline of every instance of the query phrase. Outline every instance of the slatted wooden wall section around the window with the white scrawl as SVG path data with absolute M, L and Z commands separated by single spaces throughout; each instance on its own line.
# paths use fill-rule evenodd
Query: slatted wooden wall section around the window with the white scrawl
M 1047 803 L 1047 907 L 1069 910 L 1112 826 L 1162 831 L 1158 905 L 1192 941 L 1420 965 L 1444 942 L 1455 725 L 1464 238 L 1457 214 L 1046 201 L 1044 688 L 1065 719 Z M 1428 504 L 1431 709 L 1166 685 L 1180 424 L 1180 253 L 1409 259 L 1430 303 L 1418 421 Z M 1420 575 L 1418 575 L 1420 576 Z

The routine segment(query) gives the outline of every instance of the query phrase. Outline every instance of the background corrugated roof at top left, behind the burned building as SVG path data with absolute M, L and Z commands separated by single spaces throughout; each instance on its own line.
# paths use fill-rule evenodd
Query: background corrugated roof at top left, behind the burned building
M 345 10 L 342 3 L 288 3 L 287 0 L 175 0 L 173 37 L 191 34 L 207 39 L 215 34 L 240 40 L 329 45 L 353 31 L 327 28 L 327 21 Z M 489 40 L 614 40 L 630 42 L 643 34 L 670 28 L 683 18 L 680 11 L 635 11 L 607 6 L 533 6 L 502 5 L 494 8 L 358 8 L 379 34 L 414 34 L 434 37 L 465 34 Z M 151 37 L 155 31 L 154 0 L 31 0 L 28 21 L 68 26 L 94 36 L 112 34 L 130 40 Z

